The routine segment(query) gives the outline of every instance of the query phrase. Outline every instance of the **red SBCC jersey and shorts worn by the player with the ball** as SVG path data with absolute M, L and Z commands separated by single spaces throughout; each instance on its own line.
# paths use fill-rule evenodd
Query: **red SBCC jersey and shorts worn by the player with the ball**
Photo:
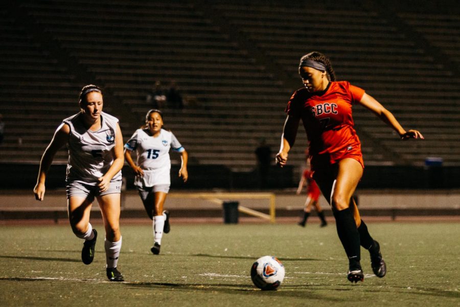
M 329 82 L 323 92 L 295 91 L 285 112 L 300 117 L 307 132 L 311 168 L 353 158 L 364 167 L 361 142 L 354 129 L 352 105 L 361 100 L 364 90 L 347 81 Z

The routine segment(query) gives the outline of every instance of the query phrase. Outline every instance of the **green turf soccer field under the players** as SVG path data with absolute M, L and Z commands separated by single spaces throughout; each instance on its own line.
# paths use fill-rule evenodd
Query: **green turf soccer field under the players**
M 151 227 L 123 225 L 119 270 L 105 277 L 102 225 L 93 264 L 80 260 L 82 241 L 68 225 L 0 226 L 1 306 L 407 306 L 460 305 L 458 223 L 368 223 L 388 273 L 372 274 L 362 251 L 364 282 L 346 278 L 348 261 L 335 226 L 174 225 L 152 255 Z M 252 286 L 252 262 L 283 261 L 278 291 Z

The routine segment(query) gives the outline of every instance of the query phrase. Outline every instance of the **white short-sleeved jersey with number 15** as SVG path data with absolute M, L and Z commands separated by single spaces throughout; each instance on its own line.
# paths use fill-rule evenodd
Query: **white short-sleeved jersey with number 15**
M 137 165 L 144 171 L 144 176 L 136 176 L 134 185 L 152 187 L 159 184 L 171 184 L 171 159 L 169 150 L 177 152 L 185 149 L 171 131 L 162 129 L 158 137 L 152 137 L 148 130 L 137 129 L 126 142 L 125 148 L 136 150 Z

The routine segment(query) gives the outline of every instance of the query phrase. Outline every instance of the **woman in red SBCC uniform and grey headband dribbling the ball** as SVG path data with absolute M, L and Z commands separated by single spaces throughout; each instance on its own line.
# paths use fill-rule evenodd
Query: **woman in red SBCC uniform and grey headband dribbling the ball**
M 423 139 L 417 130 L 405 130 L 396 118 L 364 90 L 347 81 L 336 81 L 328 57 L 311 52 L 301 58 L 299 74 L 304 87 L 295 91 L 287 107 L 277 164 L 287 163 L 302 119 L 309 142 L 312 178 L 332 206 L 337 234 L 349 258 L 348 279 L 364 279 L 360 245 L 369 250 L 374 274 L 386 274 L 380 246 L 367 231 L 352 195 L 361 179 L 364 163 L 361 143 L 354 129 L 352 105 L 360 104 L 373 112 L 401 139 Z

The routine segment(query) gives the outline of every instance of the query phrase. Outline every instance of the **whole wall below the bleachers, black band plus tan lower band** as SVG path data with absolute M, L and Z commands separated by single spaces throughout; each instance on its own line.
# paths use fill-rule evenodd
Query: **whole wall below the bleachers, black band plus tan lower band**
M 0 164 L 0 220 L 52 219 L 65 220 L 65 165 L 53 165 L 47 178 L 47 195 L 36 202 L 33 187 L 37 164 Z M 275 194 L 278 217 L 297 217 L 303 209 L 305 194 L 296 195 L 297 182 L 293 167 L 272 167 L 265 192 Z M 218 217 L 222 206 L 188 194 L 197 191 L 256 192 L 257 173 L 234 172 L 218 165 L 191 165 L 190 181 L 183 184 L 174 176 L 178 165 L 171 170 L 171 193 L 167 200 L 176 217 Z M 126 189 L 122 193 L 122 217 L 145 217 L 139 195 L 132 186 L 133 174 L 125 166 Z M 364 216 L 460 216 L 460 167 L 366 167 L 354 195 Z M 238 199 L 240 205 L 268 213 L 267 200 Z M 324 198 L 320 205 L 331 216 Z M 94 217 L 100 215 L 93 207 Z M 244 214 L 243 214 L 244 215 Z

